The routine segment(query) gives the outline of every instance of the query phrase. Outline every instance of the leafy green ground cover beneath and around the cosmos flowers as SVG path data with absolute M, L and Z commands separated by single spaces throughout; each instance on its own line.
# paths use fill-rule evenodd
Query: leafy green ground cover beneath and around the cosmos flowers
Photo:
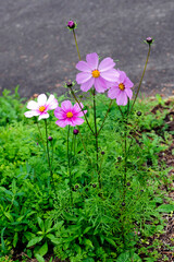
M 90 98 L 83 104 L 95 128 Z M 109 104 L 97 95 L 99 127 Z M 135 105 L 126 126 L 126 183 L 125 121 L 112 104 L 98 141 L 101 184 L 87 124 L 77 134 L 70 129 L 69 163 L 69 130 L 55 126 L 53 112 L 46 138 L 44 121 L 24 117 L 17 88 L 4 91 L 0 105 L 0 261 L 173 261 L 173 98 Z

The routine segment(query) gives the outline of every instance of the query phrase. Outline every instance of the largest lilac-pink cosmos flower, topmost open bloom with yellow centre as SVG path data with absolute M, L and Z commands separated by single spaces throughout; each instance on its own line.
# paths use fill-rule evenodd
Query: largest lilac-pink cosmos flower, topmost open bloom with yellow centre
M 108 90 L 109 82 L 115 82 L 119 78 L 117 71 L 114 69 L 113 59 L 105 58 L 99 64 L 99 57 L 96 52 L 86 56 L 86 62 L 79 61 L 76 69 L 82 71 L 76 75 L 77 84 L 80 90 L 87 92 L 94 85 L 96 91 L 103 93 Z

